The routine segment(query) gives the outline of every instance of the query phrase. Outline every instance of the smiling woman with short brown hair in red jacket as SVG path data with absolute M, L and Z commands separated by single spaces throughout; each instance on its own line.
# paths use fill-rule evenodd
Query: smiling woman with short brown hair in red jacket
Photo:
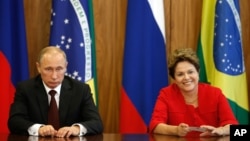
M 196 53 L 190 48 L 177 49 L 168 65 L 173 83 L 160 90 L 149 125 L 150 133 L 229 135 L 230 124 L 238 124 L 238 121 L 221 89 L 199 83 Z

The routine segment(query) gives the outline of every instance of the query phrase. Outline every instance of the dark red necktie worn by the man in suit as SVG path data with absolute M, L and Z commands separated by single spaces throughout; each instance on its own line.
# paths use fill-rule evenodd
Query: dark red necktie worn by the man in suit
M 56 130 L 59 129 L 59 112 L 56 105 L 55 99 L 55 90 L 50 90 L 49 94 L 51 95 L 49 112 L 48 112 L 48 124 L 51 124 Z

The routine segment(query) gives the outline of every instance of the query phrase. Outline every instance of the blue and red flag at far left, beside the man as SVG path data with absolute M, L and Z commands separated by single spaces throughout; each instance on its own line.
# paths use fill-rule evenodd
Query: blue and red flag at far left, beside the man
M 0 133 L 9 133 L 15 86 L 29 77 L 23 0 L 1 1 L 0 9 Z

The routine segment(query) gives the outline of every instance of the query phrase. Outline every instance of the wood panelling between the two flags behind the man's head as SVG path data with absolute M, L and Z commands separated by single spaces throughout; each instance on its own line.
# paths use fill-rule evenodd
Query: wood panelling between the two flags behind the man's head
M 30 76 L 37 74 L 38 52 L 49 43 L 51 0 L 24 0 Z

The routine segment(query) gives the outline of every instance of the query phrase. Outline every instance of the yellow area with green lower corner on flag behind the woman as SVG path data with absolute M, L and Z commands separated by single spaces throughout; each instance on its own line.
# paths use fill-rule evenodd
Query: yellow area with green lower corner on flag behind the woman
M 226 2 L 226 1 L 223 1 Z M 214 63 L 214 23 L 216 0 L 204 0 L 201 24 L 201 46 L 207 81 L 222 89 L 225 96 L 233 102 L 230 103 L 240 123 L 248 123 L 248 90 L 246 73 L 228 75 L 219 72 Z M 242 117 L 243 116 L 243 117 Z

